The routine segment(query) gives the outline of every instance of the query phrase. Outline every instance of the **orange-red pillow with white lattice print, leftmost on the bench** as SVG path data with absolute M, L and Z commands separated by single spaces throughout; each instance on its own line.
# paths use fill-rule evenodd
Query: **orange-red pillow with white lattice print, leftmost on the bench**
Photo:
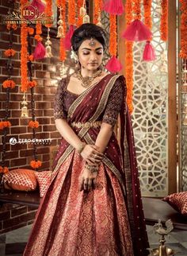
M 36 189 L 37 180 L 34 170 L 14 169 L 3 176 L 6 189 L 32 191 Z

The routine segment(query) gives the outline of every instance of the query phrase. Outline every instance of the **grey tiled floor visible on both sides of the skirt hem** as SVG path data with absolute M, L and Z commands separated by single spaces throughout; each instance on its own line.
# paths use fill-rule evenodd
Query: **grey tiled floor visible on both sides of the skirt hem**
M 0 235 L 0 256 L 22 256 L 31 227 L 21 227 Z M 152 226 L 147 226 L 147 232 L 151 248 L 157 248 L 159 236 L 155 235 Z M 187 231 L 171 231 L 166 237 L 166 246 L 174 249 L 176 256 L 187 256 Z

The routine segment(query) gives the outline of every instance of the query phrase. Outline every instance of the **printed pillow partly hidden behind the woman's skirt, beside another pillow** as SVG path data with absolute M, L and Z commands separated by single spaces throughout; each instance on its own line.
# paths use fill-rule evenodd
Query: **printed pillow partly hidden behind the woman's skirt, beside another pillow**
M 40 188 L 40 197 L 43 197 L 52 179 L 52 171 L 35 172 L 35 175 Z

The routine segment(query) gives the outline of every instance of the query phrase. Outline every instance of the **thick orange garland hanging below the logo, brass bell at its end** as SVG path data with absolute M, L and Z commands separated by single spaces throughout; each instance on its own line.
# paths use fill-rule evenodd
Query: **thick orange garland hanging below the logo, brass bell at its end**
M 27 34 L 26 24 L 21 24 L 21 91 L 27 91 Z

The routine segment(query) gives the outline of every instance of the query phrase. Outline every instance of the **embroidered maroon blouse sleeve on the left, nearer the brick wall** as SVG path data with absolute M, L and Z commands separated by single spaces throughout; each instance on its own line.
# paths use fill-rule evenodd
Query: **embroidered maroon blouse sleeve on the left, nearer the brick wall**
M 67 113 L 64 111 L 64 86 L 65 80 L 60 80 L 55 93 L 54 102 L 54 118 L 67 118 Z

